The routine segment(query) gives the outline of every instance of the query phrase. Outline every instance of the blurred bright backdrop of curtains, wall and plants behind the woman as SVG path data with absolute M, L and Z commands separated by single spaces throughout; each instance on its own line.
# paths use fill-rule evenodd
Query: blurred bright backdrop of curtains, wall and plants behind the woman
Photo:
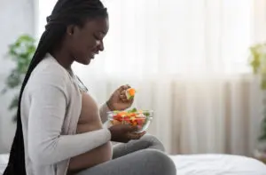
M 0 154 L 10 150 L 16 96 L 55 3 L 0 6 Z M 133 106 L 155 111 L 149 132 L 168 153 L 266 153 L 265 0 L 103 3 L 106 50 L 90 66 L 73 67 L 98 104 L 130 84 L 137 89 Z

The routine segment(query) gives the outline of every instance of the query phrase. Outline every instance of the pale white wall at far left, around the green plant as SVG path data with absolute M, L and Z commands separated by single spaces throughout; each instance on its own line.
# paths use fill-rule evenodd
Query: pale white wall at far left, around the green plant
M 4 78 L 10 73 L 12 62 L 4 55 L 8 44 L 12 44 L 21 34 L 35 34 L 35 1 L 8 0 L 0 5 L 0 90 L 4 87 Z M 12 93 L 0 95 L 0 154 L 10 150 L 15 131 L 12 114 L 7 107 Z

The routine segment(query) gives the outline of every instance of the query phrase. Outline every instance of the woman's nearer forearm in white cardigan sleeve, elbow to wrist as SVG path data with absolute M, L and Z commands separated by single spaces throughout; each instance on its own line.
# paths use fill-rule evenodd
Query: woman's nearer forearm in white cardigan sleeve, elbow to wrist
M 58 138 L 35 139 L 29 141 L 28 154 L 33 162 L 41 165 L 59 163 L 76 155 L 82 155 L 110 139 L 111 134 L 106 129 Z

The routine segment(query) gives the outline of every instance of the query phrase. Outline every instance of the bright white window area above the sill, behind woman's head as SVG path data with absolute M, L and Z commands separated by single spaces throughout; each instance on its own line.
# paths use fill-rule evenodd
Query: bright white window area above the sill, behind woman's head
M 39 34 L 56 3 L 49 1 L 40 0 Z M 104 2 L 110 13 L 110 31 L 106 51 L 90 65 L 94 73 L 199 76 L 250 72 L 252 0 Z

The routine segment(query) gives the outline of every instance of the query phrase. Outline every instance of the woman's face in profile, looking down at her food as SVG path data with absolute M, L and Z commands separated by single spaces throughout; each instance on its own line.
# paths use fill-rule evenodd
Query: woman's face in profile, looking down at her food
M 75 61 L 89 65 L 95 55 L 104 51 L 104 37 L 109 29 L 108 18 L 87 20 L 81 27 L 75 26 L 69 36 L 69 50 Z

